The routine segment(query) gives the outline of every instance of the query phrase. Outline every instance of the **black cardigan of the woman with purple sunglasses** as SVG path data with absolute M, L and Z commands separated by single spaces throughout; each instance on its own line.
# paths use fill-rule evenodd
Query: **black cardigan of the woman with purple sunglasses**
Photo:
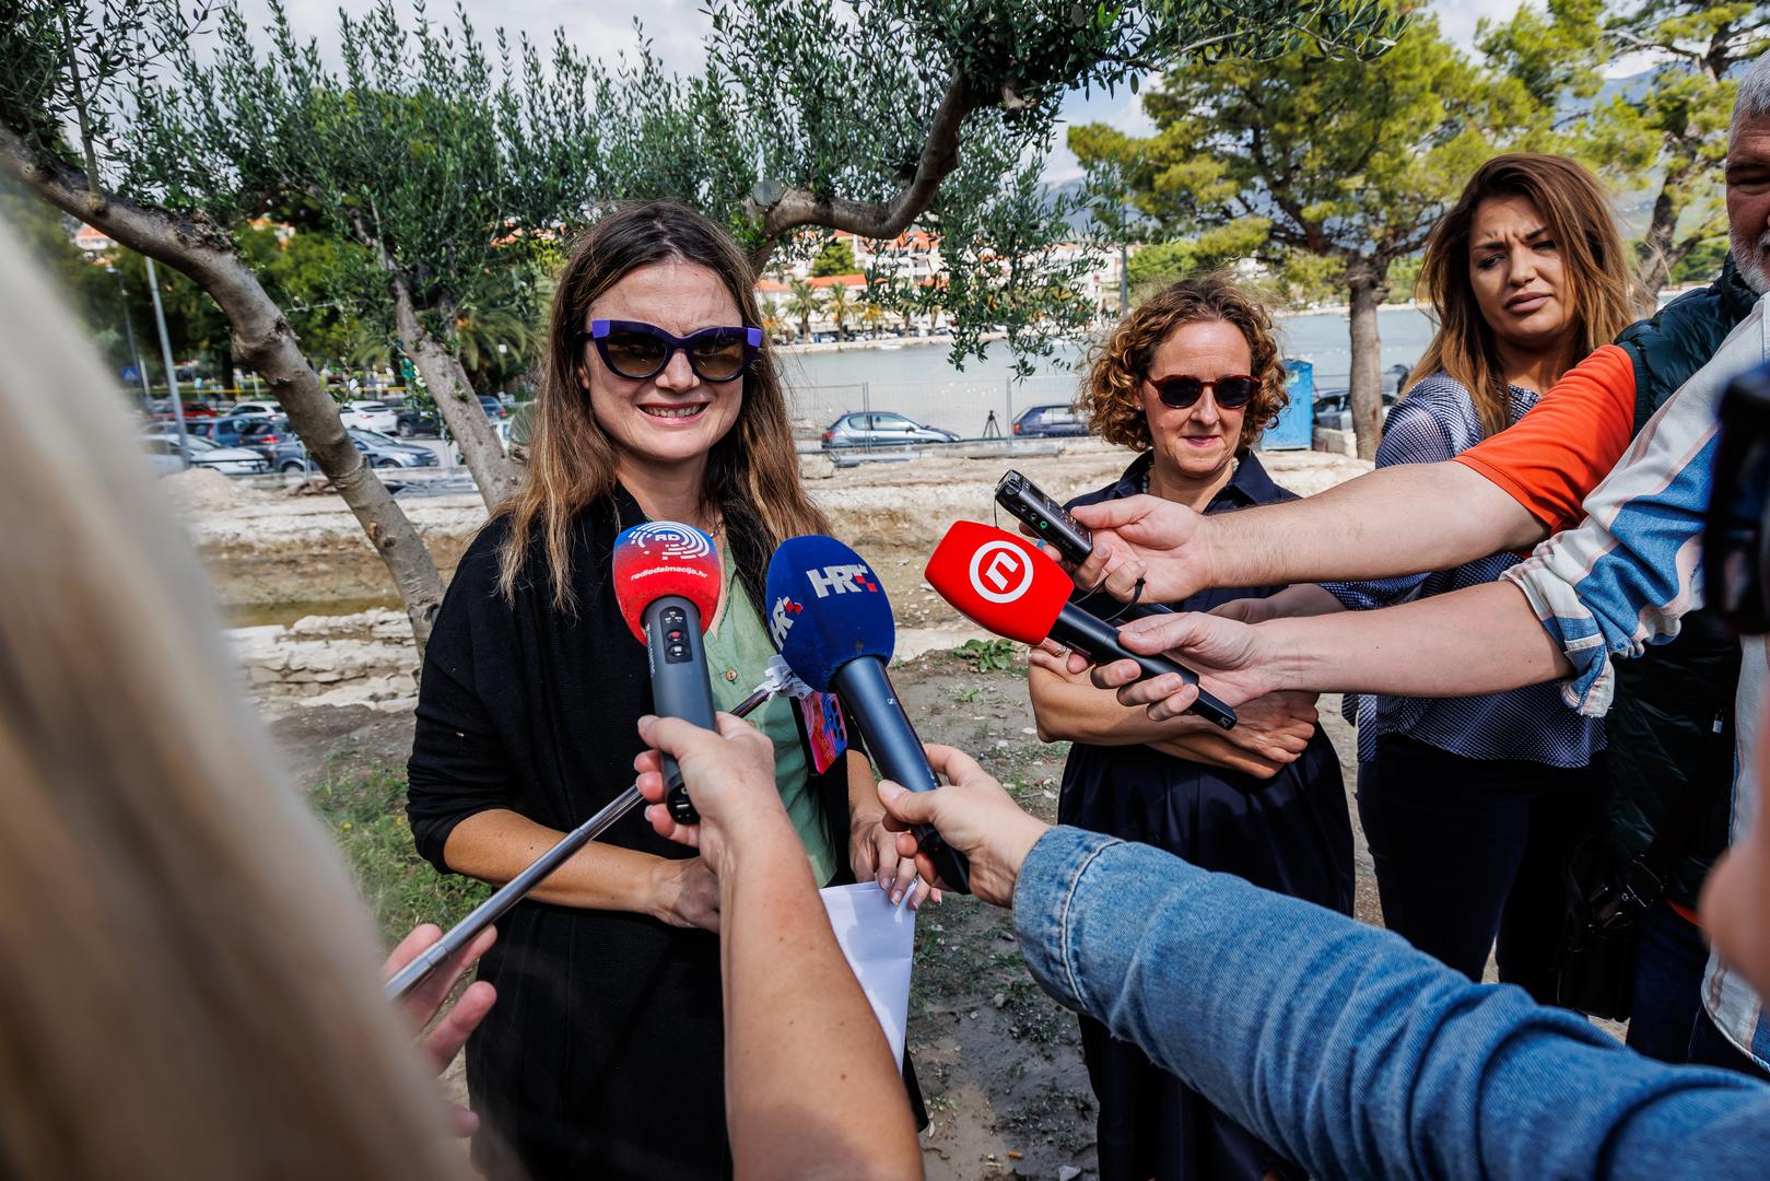
M 497 593 L 503 519 L 469 545 L 425 653 L 407 765 L 412 838 L 437 869 L 450 871 L 442 848 L 467 816 L 508 807 L 563 832 L 632 784 L 634 722 L 651 710 L 651 685 L 609 563 L 614 536 L 639 521 L 625 490 L 579 513 L 575 616 L 554 609 L 538 547 L 515 604 Z M 768 560 L 733 547 L 752 572 Z M 844 763 L 811 786 L 846 850 Z M 692 855 L 639 811 L 602 839 Z M 637 914 L 536 901 L 499 926 L 480 965 L 497 1004 L 467 1043 L 467 1087 L 489 1128 L 474 1142 L 481 1169 L 510 1172 L 503 1142 L 535 1181 L 727 1172 L 719 940 Z

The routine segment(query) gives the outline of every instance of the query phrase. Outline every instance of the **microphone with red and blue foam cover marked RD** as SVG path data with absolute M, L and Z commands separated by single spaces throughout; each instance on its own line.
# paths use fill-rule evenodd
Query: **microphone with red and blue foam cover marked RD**
M 719 609 L 719 549 L 690 524 L 648 521 L 614 538 L 614 602 L 646 646 L 651 708 L 706 729 L 717 729 L 719 721 L 701 632 Z M 676 760 L 666 754 L 662 770 L 671 816 L 697 823 Z

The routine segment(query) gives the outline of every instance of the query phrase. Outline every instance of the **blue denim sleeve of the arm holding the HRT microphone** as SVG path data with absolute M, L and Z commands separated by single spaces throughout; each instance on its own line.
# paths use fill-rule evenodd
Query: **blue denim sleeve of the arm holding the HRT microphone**
M 1324 1177 L 1763 1177 L 1770 1085 L 1643 1059 L 1402 938 L 1080 829 L 1014 891 L 1021 953 Z

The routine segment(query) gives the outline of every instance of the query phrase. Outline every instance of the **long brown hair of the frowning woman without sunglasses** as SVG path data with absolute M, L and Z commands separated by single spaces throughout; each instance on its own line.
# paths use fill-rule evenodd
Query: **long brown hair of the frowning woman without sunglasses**
M 1496 156 L 1476 168 L 1462 197 L 1439 218 L 1427 239 L 1416 290 L 1432 305 L 1437 333 L 1407 384 L 1439 370 L 1450 374 L 1474 400 L 1483 436 L 1512 425 L 1494 329 L 1481 317 L 1469 285 L 1474 212 L 1483 200 L 1494 197 L 1524 197 L 1536 205 L 1561 251 L 1566 297 L 1575 320 L 1574 343 L 1561 359 L 1561 372 L 1598 345 L 1611 343 L 1634 319 L 1634 269 L 1623 257 L 1623 239 L 1616 234 L 1604 191 L 1586 168 L 1565 156 L 1538 152 Z

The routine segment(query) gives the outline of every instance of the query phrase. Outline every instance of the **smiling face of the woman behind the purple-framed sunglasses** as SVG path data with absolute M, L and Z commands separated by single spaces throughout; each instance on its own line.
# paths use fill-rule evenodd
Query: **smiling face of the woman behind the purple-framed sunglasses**
M 641 320 L 676 336 L 703 328 L 736 328 L 743 315 L 719 274 L 696 262 L 671 259 L 635 267 L 589 305 L 589 320 Z M 591 413 L 623 457 L 639 464 L 676 466 L 703 460 L 738 421 L 743 379 L 708 382 L 674 352 L 653 377 L 621 377 L 584 340 L 579 382 Z

